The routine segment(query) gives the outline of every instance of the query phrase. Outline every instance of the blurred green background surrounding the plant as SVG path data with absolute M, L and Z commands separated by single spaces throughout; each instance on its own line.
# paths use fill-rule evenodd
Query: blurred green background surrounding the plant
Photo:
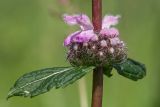
M 76 28 L 63 22 L 63 13 L 91 16 L 91 0 L 0 0 L 0 107 L 90 107 L 92 73 L 33 99 L 5 99 L 22 74 L 69 65 L 62 44 Z M 103 0 L 103 15 L 111 13 L 122 16 L 121 39 L 129 57 L 146 64 L 147 76 L 105 77 L 103 107 L 160 107 L 160 0 Z

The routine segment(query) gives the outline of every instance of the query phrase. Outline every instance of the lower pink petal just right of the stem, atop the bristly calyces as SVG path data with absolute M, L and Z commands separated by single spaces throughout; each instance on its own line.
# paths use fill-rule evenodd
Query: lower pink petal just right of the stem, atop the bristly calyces
M 101 34 L 101 36 L 106 36 L 106 37 L 109 37 L 109 38 L 114 38 L 114 37 L 118 37 L 119 31 L 116 28 L 110 28 L 110 29 L 105 28 L 105 29 L 102 29 L 100 31 L 100 34 Z

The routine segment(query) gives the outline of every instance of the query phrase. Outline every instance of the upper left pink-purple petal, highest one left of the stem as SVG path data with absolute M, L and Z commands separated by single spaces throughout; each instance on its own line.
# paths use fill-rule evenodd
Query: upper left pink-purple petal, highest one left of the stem
M 93 29 L 93 25 L 89 19 L 89 17 L 85 14 L 77 14 L 77 15 L 67 15 L 63 16 L 64 21 L 69 25 L 80 25 L 82 30 L 91 30 Z

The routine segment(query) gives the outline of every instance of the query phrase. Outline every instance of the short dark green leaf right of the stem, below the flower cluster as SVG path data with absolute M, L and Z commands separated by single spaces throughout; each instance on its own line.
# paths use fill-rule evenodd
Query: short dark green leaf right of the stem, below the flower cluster
M 114 64 L 113 67 L 120 75 L 134 81 L 146 75 L 145 65 L 130 58 L 120 64 Z

